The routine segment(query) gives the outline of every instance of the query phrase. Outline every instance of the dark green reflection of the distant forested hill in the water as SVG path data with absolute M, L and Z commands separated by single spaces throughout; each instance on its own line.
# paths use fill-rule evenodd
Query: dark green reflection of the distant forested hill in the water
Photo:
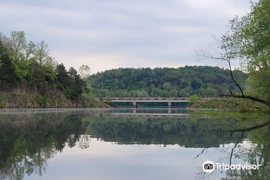
M 237 141 L 241 132 L 229 130 L 256 126 L 265 121 L 253 119 L 138 119 L 138 118 L 91 118 L 82 119 L 85 134 L 106 142 L 118 144 L 163 144 L 184 146 L 186 148 L 219 147 Z M 230 137 L 230 138 L 228 138 Z M 243 135 L 246 138 L 246 135 Z

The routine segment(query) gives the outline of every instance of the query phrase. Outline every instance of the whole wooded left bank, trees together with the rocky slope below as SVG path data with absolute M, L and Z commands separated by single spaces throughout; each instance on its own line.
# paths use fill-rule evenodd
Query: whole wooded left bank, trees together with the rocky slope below
M 43 40 L 27 42 L 25 32 L 0 32 L 0 107 L 92 107 L 83 95 L 90 68 L 67 70 L 50 55 Z M 18 93 L 16 93 L 18 92 Z

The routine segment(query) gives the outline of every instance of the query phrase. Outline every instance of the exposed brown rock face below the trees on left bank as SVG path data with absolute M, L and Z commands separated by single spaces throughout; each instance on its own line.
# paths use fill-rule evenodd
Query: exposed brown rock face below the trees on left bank
M 46 93 L 41 94 L 33 87 L 17 85 L 0 90 L 0 107 L 113 107 L 113 105 L 87 98 L 70 101 L 57 88 L 46 89 Z

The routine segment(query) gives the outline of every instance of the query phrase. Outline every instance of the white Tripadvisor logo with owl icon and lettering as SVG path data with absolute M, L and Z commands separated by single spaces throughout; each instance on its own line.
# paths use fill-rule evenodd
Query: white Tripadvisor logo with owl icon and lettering
M 258 170 L 259 169 L 259 164 L 256 165 L 256 164 L 220 164 L 220 163 L 213 163 L 212 161 L 205 161 L 203 164 L 202 164 L 202 169 L 204 170 L 205 173 L 211 173 L 214 171 L 215 169 L 215 165 L 217 167 L 217 170 L 240 170 L 240 169 L 246 169 L 246 170 Z

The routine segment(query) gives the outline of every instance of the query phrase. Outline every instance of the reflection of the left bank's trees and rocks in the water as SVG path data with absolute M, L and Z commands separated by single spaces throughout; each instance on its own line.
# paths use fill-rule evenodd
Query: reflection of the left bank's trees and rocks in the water
M 23 179 L 25 174 L 46 173 L 47 161 L 62 152 L 65 143 L 79 139 L 81 116 L 73 113 L 39 113 L 5 116 L 0 122 L 0 179 Z

